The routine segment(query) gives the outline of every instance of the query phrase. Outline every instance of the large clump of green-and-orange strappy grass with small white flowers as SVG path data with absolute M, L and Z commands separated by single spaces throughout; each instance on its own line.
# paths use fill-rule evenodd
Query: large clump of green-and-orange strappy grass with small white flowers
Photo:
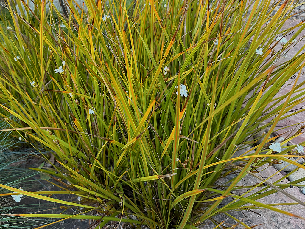
M 53 167 L 36 170 L 67 182 L 66 193 L 82 201 L 1 187 L 78 212 L 41 217 L 87 217 L 100 228 L 110 220 L 195 228 L 246 203 L 286 213 L 257 201 L 264 189 L 246 197 L 264 179 L 242 196 L 234 190 L 256 166 L 293 149 L 275 155 L 265 148 L 304 95 L 297 80 L 305 54 L 278 63 L 304 28 L 282 29 L 293 1 L 253 1 L 248 14 L 243 1 L 88 0 L 86 12 L 70 5 L 69 18 L 40 3 L 34 16 L 10 11 L 14 30 L 0 28 L 2 118 L 13 115 L 16 133 L 53 152 Z M 290 92 L 277 97 L 295 74 Z M 270 131 L 242 167 L 231 164 L 243 159 L 234 158 L 236 146 L 264 128 L 258 120 Z M 220 190 L 215 182 L 229 173 L 238 176 Z M 220 207 L 228 196 L 234 204 Z

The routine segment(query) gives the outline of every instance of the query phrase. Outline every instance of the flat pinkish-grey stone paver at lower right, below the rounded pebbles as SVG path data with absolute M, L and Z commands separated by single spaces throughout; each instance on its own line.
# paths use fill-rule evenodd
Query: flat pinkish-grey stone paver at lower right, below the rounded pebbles
M 234 155 L 234 157 L 241 155 L 242 153 L 248 151 L 251 147 L 247 147 L 243 150 L 240 150 Z M 250 153 L 254 153 L 254 151 L 251 151 Z M 279 173 L 273 166 L 270 167 L 264 167 L 264 168 L 258 168 L 259 173 L 256 173 L 258 176 L 263 177 L 264 179 L 268 179 L 268 182 L 274 183 L 277 180 L 280 180 L 278 184 L 288 184 L 289 180 L 283 179 L 283 175 Z M 234 177 L 234 175 L 232 175 Z M 222 180 L 222 184 L 227 182 L 229 179 L 232 179 L 233 177 L 226 177 Z M 256 183 L 260 183 L 261 180 L 257 179 L 256 177 L 253 177 L 249 174 L 247 174 L 237 185 L 243 185 L 243 186 L 253 186 Z M 251 194 L 257 192 L 258 190 L 261 190 L 265 187 L 257 187 L 253 191 L 251 191 Z M 269 187 L 268 190 L 271 190 L 272 188 Z M 242 192 L 246 192 L 249 190 L 249 188 L 235 192 L 236 194 L 241 194 Z M 302 202 L 305 202 L 305 195 L 300 192 L 300 189 L 298 187 L 287 187 L 284 189 L 284 191 L 288 194 L 293 195 L 294 197 L 298 198 Z M 228 204 L 231 202 L 231 198 L 225 198 L 224 201 L 221 204 Z M 260 203 L 263 204 L 279 204 L 279 203 L 294 203 L 295 201 L 291 198 L 287 197 L 285 194 L 281 192 L 276 192 L 274 194 L 271 194 L 267 197 L 261 198 L 257 200 Z M 251 205 L 251 204 L 248 204 Z M 221 205 L 222 207 L 223 205 Z M 252 205 L 253 206 L 253 205 Z M 305 217 L 305 207 L 297 204 L 297 205 L 280 205 L 280 206 L 274 206 L 276 208 L 279 208 L 281 210 L 284 210 L 286 212 L 289 212 L 291 214 Z M 303 229 L 305 228 L 305 220 L 302 220 L 300 218 L 284 215 L 282 213 L 274 212 L 269 209 L 260 209 L 260 208 L 254 208 L 252 211 L 231 211 L 228 212 L 230 215 L 234 216 L 238 220 L 242 220 L 243 223 L 247 224 L 249 227 L 253 227 L 255 229 Z M 236 221 L 231 220 L 228 216 L 225 214 L 220 214 L 213 219 L 217 220 L 218 222 L 221 222 L 223 220 L 224 224 L 227 227 L 231 227 L 233 224 L 236 224 Z M 257 226 L 256 226 L 257 225 Z M 255 226 L 255 227 L 254 227 Z M 208 229 L 208 228 L 214 228 L 215 225 L 212 223 L 212 221 L 208 220 L 200 225 L 200 229 Z M 222 228 L 222 227 L 221 227 Z M 242 225 L 239 225 L 239 227 L 236 228 L 245 228 Z

